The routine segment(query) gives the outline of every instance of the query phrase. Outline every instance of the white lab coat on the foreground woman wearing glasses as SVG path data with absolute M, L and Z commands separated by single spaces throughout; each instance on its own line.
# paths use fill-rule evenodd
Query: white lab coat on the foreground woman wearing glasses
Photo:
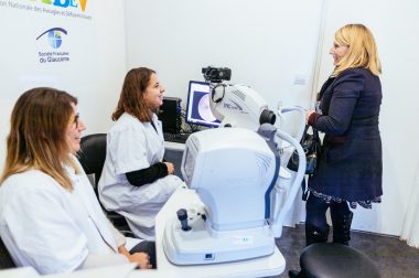
M 67 167 L 73 191 L 39 170 L 13 174 L 1 184 L 0 235 L 17 266 L 53 274 L 84 268 L 92 256 L 101 256 L 106 265 L 128 263 L 118 254 L 125 237 L 106 218 L 73 159 L 82 171 L 75 174 Z

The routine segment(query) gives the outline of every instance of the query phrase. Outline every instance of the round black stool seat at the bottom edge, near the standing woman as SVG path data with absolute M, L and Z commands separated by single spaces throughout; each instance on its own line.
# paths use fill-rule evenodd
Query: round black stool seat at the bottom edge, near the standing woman
M 316 243 L 300 256 L 299 277 L 380 277 L 373 260 L 343 244 Z

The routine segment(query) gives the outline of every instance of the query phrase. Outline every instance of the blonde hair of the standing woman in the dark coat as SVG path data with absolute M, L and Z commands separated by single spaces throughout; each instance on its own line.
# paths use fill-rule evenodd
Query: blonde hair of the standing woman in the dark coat
M 346 45 L 346 54 L 339 61 L 332 75 L 337 76 L 343 71 L 364 67 L 374 75 L 382 73 L 377 46 L 372 32 L 363 24 L 347 24 L 335 33 L 335 43 Z

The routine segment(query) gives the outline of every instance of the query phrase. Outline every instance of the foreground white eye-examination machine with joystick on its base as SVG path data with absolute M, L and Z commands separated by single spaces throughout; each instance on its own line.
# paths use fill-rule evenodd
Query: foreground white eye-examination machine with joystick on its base
M 166 224 L 163 247 L 170 261 L 214 264 L 273 253 L 265 195 L 276 175 L 276 158 L 261 136 L 243 128 L 193 133 L 182 173 L 205 204 L 190 207 L 189 214 L 201 211 L 206 220 L 190 221 L 190 231 L 183 231 L 176 218 Z

